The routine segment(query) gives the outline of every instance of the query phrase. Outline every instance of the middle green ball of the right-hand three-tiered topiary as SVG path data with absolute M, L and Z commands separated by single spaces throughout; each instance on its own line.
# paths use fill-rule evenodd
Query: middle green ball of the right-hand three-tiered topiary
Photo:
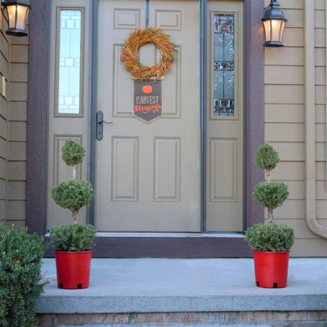
M 265 208 L 277 208 L 289 196 L 287 186 L 282 181 L 265 181 L 255 186 L 252 194 Z

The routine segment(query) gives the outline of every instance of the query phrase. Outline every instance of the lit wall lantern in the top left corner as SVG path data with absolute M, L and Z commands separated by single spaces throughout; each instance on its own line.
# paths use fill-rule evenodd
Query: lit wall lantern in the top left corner
M 26 22 L 31 5 L 24 1 L 1 0 L 6 16 L 8 17 L 9 36 L 27 36 Z

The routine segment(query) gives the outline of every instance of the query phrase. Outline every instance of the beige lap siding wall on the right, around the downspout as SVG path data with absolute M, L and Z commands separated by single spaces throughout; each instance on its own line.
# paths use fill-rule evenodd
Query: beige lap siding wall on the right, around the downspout
M 265 1 L 267 5 L 269 1 Z M 275 210 L 277 223 L 294 228 L 295 257 L 326 256 L 327 240 L 306 226 L 305 183 L 305 54 L 304 0 L 279 2 L 286 23 L 284 48 L 265 49 L 265 140 L 272 144 L 281 162 L 273 179 L 284 181 L 290 195 Z M 316 213 L 318 223 L 327 225 L 326 191 L 326 22 L 325 1 L 315 0 L 315 96 L 316 96 Z

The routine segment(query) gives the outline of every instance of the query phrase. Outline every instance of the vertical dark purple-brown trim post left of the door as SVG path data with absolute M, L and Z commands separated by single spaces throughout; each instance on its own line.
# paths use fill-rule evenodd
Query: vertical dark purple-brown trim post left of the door
M 31 0 L 28 46 L 26 224 L 45 232 L 48 157 L 48 23 L 49 4 Z

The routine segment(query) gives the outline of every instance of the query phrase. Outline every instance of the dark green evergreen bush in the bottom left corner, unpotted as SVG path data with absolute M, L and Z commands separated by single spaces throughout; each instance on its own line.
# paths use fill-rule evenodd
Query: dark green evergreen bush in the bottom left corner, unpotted
M 42 237 L 0 225 L 0 326 L 33 326 L 36 299 L 43 292 Z

